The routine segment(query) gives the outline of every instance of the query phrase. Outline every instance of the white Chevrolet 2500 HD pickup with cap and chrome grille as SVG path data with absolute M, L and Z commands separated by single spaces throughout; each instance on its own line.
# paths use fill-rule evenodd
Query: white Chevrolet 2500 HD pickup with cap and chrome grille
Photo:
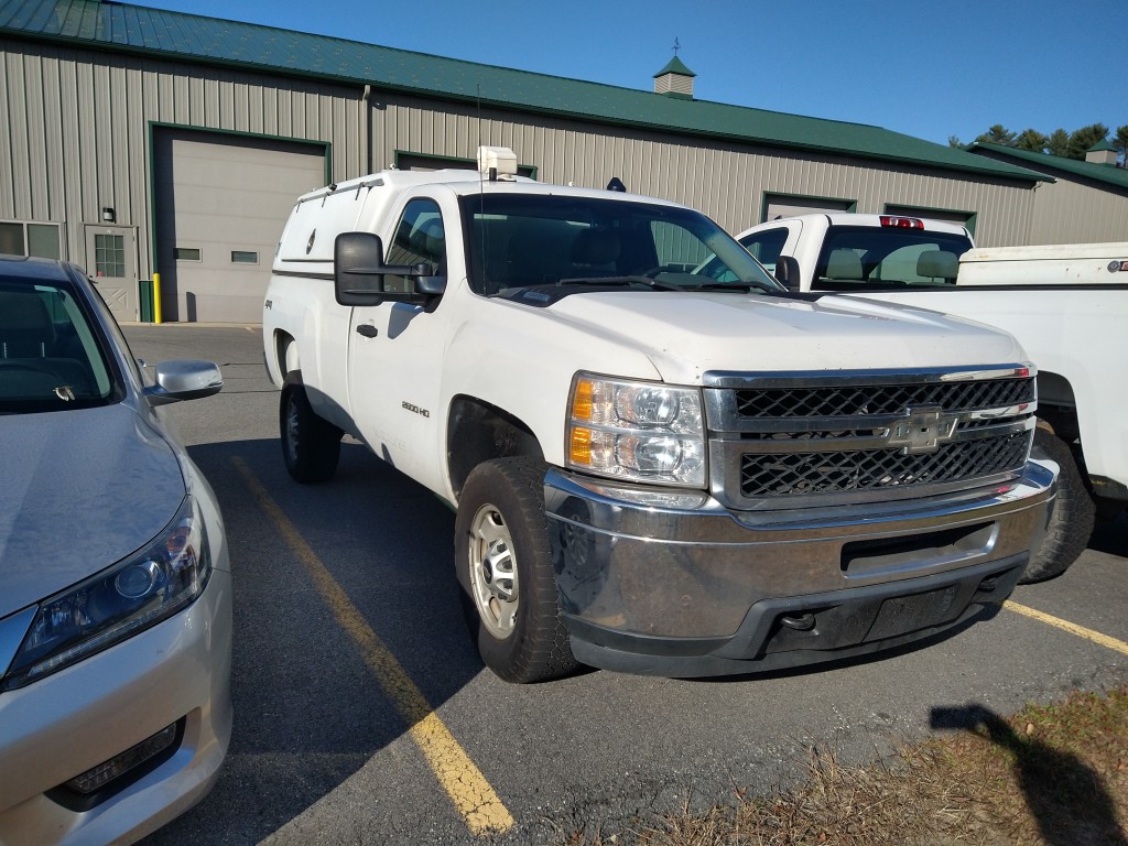
M 479 162 L 300 197 L 263 343 L 293 478 L 349 433 L 457 510 L 494 672 L 794 667 L 1010 594 L 1057 484 L 1013 338 L 794 296 L 690 209 Z

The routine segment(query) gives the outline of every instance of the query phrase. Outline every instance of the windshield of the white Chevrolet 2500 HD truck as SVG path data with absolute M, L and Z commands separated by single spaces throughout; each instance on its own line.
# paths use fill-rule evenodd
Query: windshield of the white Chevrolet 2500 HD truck
M 461 203 L 478 293 L 591 284 L 783 290 L 724 230 L 689 209 L 553 194 L 473 195 Z

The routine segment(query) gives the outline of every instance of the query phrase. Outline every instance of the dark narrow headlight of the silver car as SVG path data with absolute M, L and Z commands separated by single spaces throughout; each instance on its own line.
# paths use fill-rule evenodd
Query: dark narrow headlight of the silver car
M 211 575 L 203 518 L 192 496 L 140 553 L 39 603 L 0 690 L 24 687 L 171 617 Z

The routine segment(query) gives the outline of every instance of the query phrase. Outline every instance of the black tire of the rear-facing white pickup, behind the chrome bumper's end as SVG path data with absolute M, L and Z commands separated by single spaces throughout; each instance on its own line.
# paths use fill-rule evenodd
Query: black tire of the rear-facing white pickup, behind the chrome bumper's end
M 1039 426 L 1034 430 L 1033 455 L 1057 461 L 1061 473 L 1058 476 L 1054 513 L 1046 528 L 1046 539 L 1026 565 L 1026 571 L 1019 580 L 1020 584 L 1061 575 L 1089 545 L 1095 512 L 1093 499 L 1089 495 L 1068 443 Z

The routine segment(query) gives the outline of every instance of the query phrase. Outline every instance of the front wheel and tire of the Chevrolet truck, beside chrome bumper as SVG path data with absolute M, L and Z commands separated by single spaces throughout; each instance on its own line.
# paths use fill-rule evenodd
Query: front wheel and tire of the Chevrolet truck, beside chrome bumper
M 470 634 L 505 681 L 559 678 L 578 667 L 561 620 L 548 530 L 545 465 L 501 458 L 466 479 L 455 520 L 455 566 Z

